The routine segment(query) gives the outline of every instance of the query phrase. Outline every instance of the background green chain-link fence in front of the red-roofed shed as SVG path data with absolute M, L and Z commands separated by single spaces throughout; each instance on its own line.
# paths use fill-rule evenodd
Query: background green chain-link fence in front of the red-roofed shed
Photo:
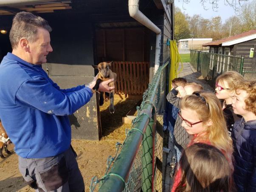
M 201 75 L 209 81 L 210 85 L 214 85 L 216 78 L 225 71 L 237 71 L 242 74 L 243 62 L 243 57 L 190 51 L 190 64 L 194 69 L 201 72 Z

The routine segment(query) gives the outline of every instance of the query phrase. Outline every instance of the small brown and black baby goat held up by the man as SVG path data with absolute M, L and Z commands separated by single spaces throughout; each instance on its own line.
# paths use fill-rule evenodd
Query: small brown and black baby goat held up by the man
M 110 66 L 112 65 L 112 63 L 113 63 L 113 61 L 111 61 L 110 63 L 101 62 L 101 63 L 98 63 L 98 66 L 92 65 L 93 68 L 98 69 L 98 79 L 96 80 L 96 84 L 93 87 L 93 90 L 98 91 L 99 84 L 102 81 L 107 81 L 109 79 L 114 79 L 114 81 L 110 82 L 108 85 L 110 87 L 113 87 L 115 85 L 116 73 L 114 73 L 114 72 L 112 72 L 110 70 Z M 115 108 L 114 108 L 114 93 L 115 93 L 115 90 L 110 91 L 110 113 L 114 113 L 115 112 Z

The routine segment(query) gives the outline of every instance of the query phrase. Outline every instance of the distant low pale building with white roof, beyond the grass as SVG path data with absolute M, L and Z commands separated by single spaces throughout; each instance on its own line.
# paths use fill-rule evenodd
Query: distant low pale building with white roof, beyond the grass
M 212 38 L 186 38 L 178 41 L 179 50 L 207 50 L 207 47 L 203 47 L 203 44 L 209 43 Z

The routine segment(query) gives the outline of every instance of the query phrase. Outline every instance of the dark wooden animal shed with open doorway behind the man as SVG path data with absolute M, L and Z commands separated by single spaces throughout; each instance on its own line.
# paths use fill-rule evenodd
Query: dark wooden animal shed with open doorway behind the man
M 6 2 L 5 4 L 3 2 Z M 42 16 L 53 28 L 53 52 L 42 65 L 61 88 L 93 80 L 92 64 L 114 61 L 115 93 L 142 95 L 155 66 L 156 34 L 129 16 L 128 0 L 3 0 L 0 2 L 0 60 L 11 52 L 8 33 L 15 13 Z M 17 3 L 18 2 L 18 3 Z M 140 11 L 161 30 L 160 65 L 169 59 L 167 39 L 173 39 L 173 3 L 140 0 Z M 73 139 L 99 140 L 101 122 L 96 94 L 70 115 Z

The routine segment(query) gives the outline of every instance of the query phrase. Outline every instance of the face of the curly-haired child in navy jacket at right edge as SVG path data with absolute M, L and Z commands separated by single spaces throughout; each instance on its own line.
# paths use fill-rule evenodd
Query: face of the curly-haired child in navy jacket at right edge
M 245 110 L 245 99 L 248 97 L 248 93 L 245 90 L 238 89 L 234 96 L 232 97 L 232 107 L 235 114 L 245 115 L 248 113 Z

